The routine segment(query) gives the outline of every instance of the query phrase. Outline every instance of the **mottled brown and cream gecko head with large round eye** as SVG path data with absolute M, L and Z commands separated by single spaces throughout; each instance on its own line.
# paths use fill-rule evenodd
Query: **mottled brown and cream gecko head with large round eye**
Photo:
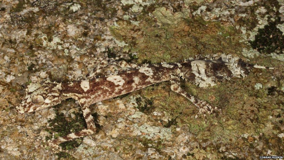
M 26 97 L 16 110 L 28 113 L 59 104 L 62 100 L 61 89 L 61 83 L 31 83 L 26 88 Z

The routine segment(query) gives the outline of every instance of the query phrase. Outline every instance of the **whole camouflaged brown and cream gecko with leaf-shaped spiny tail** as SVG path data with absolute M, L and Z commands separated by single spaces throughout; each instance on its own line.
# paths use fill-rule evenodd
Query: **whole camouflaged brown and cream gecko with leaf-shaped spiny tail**
M 188 59 L 182 63 L 163 62 L 161 64 L 136 65 L 118 61 L 112 62 L 112 64 L 127 69 L 115 75 L 97 78 L 96 74 L 98 72 L 95 71 L 89 79 L 76 82 L 31 83 L 26 88 L 26 97 L 17 106 L 17 112 L 34 112 L 59 104 L 64 99 L 76 99 L 82 107 L 87 128 L 50 142 L 53 146 L 57 146 L 62 142 L 95 133 L 96 128 L 89 109 L 89 106 L 93 103 L 133 92 L 155 83 L 171 81 L 172 91 L 183 95 L 199 108 L 196 118 L 199 114 L 205 117 L 206 112 L 210 114 L 219 109 L 185 92 L 180 87 L 181 79 L 192 82 L 198 87 L 212 87 L 216 85 L 216 81 L 229 80 L 232 77 L 244 77 L 252 68 L 268 68 L 247 64 L 238 57 L 225 54 L 221 56 L 214 55 L 213 57 L 207 56 L 206 58 L 199 57 L 195 60 Z M 102 63 L 102 66 L 106 66 L 106 64 Z M 101 70 L 101 67 L 97 69 Z

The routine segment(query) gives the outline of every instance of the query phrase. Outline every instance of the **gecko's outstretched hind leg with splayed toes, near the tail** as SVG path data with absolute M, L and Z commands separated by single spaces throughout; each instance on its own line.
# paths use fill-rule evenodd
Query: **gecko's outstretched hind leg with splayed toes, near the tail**
M 176 92 L 178 94 L 181 94 L 182 96 L 187 98 L 189 101 L 191 101 L 196 107 L 198 107 L 199 112 L 195 115 L 195 118 L 197 118 L 200 114 L 202 114 L 203 117 L 205 118 L 205 122 L 207 122 L 206 112 L 208 114 L 211 114 L 214 110 L 220 111 L 219 108 L 212 107 L 206 101 L 199 100 L 196 97 L 188 94 L 184 89 L 182 89 L 180 87 L 180 83 L 175 82 L 174 80 L 172 80 L 171 83 L 172 83 L 172 85 L 171 85 L 171 90 L 172 91 L 174 91 L 174 92 Z

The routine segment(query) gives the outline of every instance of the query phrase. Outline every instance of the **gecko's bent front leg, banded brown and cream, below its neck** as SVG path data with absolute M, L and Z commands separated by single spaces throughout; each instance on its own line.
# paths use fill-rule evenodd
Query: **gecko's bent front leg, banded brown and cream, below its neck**
M 73 140 L 75 138 L 88 136 L 88 135 L 94 134 L 96 132 L 95 123 L 93 122 L 93 116 L 91 115 L 90 109 L 86 106 L 87 105 L 84 105 L 82 107 L 82 110 L 83 110 L 84 119 L 85 119 L 86 124 L 87 124 L 87 128 L 83 129 L 81 131 L 75 132 L 75 133 L 70 133 L 66 136 L 58 137 L 54 140 L 51 140 L 51 141 L 49 141 L 50 146 L 54 147 L 55 149 L 62 151 L 61 147 L 59 146 L 60 143 L 63 143 L 63 142 L 69 141 L 69 140 Z

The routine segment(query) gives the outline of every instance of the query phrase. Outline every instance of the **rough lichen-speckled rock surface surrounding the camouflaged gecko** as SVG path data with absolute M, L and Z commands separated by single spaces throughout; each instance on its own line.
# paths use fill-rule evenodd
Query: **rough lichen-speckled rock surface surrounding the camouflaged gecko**
M 1 1 L 0 159 L 283 155 L 283 8 L 283 0 Z M 168 82 L 92 105 L 97 133 L 62 144 L 63 152 L 45 140 L 84 128 L 73 99 L 15 111 L 29 83 L 82 79 L 105 54 L 157 63 L 216 53 L 275 69 L 209 88 L 185 82 L 187 92 L 221 108 L 207 123 Z

